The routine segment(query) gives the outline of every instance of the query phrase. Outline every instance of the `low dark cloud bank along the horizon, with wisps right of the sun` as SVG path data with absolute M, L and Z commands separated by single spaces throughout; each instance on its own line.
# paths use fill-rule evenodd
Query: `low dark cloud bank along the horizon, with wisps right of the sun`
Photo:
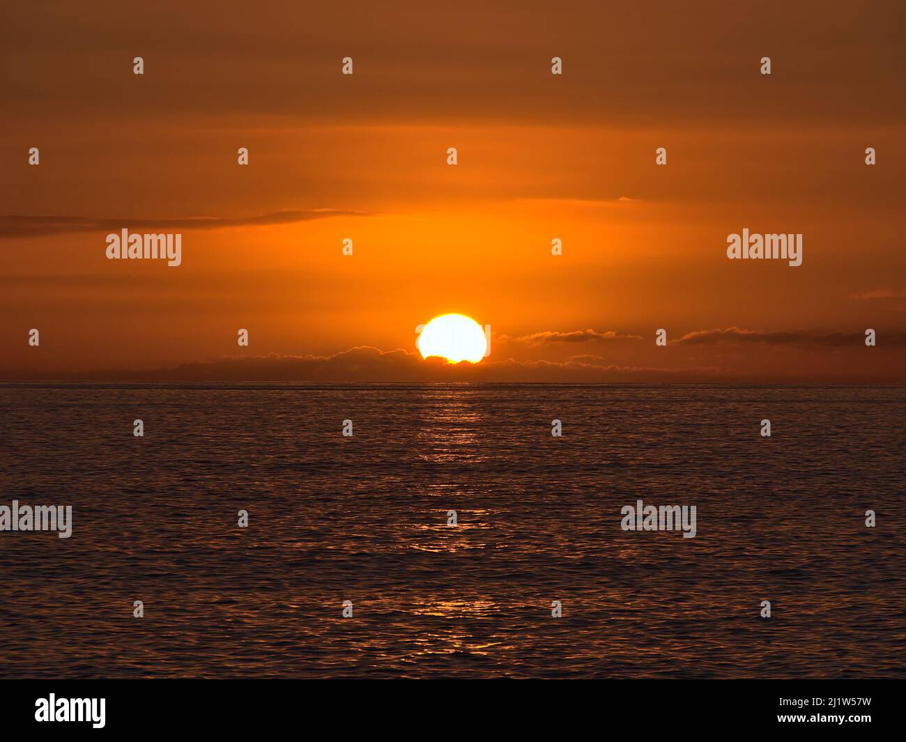
M 526 338 L 541 336 L 551 342 L 551 335 L 581 335 L 584 340 L 564 342 L 597 342 L 602 338 L 617 336 L 615 332 L 538 332 Z M 619 335 L 635 338 L 634 335 Z M 371 346 L 358 346 L 331 355 L 281 355 L 229 356 L 211 361 L 193 361 L 165 368 L 108 369 L 87 371 L 60 371 L 44 367 L 30 369 L 3 369 L 0 379 L 5 381 L 96 381 L 127 383 L 220 383 L 220 384 L 369 384 L 369 383 L 777 383 L 777 382 L 884 382 L 902 383 L 903 366 L 897 362 L 906 349 L 906 332 L 882 330 L 878 332 L 879 351 L 892 349 L 895 354 L 883 366 L 872 364 L 861 371 L 846 371 L 840 366 L 839 352 L 864 350 L 862 332 L 757 332 L 729 327 L 718 330 L 689 332 L 671 342 L 673 345 L 714 346 L 718 343 L 760 344 L 787 350 L 809 350 L 814 357 L 811 371 L 793 368 L 774 368 L 765 376 L 763 369 L 747 365 L 743 368 L 728 366 L 719 352 L 714 361 L 689 359 L 683 367 L 681 355 L 663 366 L 619 365 L 592 353 L 571 355 L 565 361 L 518 361 L 485 359 L 477 364 L 468 362 L 448 363 L 443 359 L 423 360 L 418 352 L 403 349 L 383 351 Z M 582 347 L 581 345 L 579 347 Z M 834 358 L 831 358 L 833 354 Z M 700 355 L 695 353 L 694 355 Z M 881 356 L 877 356 L 881 358 Z M 834 360 L 835 359 L 835 360 Z

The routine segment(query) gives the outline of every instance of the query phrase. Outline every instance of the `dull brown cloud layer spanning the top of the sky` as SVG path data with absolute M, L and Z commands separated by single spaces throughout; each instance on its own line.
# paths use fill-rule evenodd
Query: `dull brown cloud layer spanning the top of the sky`
M 776 34 L 782 23 L 786 38 L 809 43 L 785 49 L 786 70 L 796 74 L 775 84 L 775 105 L 759 111 L 763 120 L 859 121 L 868 102 L 872 121 L 898 123 L 903 113 L 897 94 L 901 65 L 892 63 L 901 58 L 896 33 L 901 5 L 890 0 L 873 3 L 869 18 L 854 3 L 834 3 L 833 13 L 815 12 L 817 3 L 768 3 L 757 14 L 747 4 L 708 3 L 701 5 L 719 6 L 719 13 L 700 13 L 694 22 L 682 4 L 644 4 L 658 23 L 645 23 L 633 4 L 591 2 L 565 4 L 555 14 L 544 3 L 476 0 L 461 4 L 455 14 L 417 0 L 381 4 L 377 15 L 371 4 L 361 2 L 322 4 L 317 13 L 305 4 L 260 4 L 279 7 L 277 23 L 271 13 L 212 13 L 208 3 L 181 4 L 178 21 L 169 3 L 155 13 L 111 0 L 82 4 L 80 13 L 68 8 L 54 13 L 48 5 L 4 6 L 4 63 L 10 71 L 4 80 L 5 111 L 91 111 L 84 101 L 99 100 L 99 88 L 125 91 L 130 81 L 125 75 L 86 77 L 84 62 L 116 63 L 123 45 L 128 46 L 125 40 L 132 38 L 133 44 L 140 40 L 146 58 L 156 60 L 154 72 L 141 81 L 147 83 L 145 93 L 128 99 L 130 105 L 108 106 L 104 112 L 110 116 L 138 119 L 149 111 L 159 115 L 166 106 L 169 111 L 238 109 L 348 120 L 349 99 L 334 92 L 339 70 L 334 57 L 341 44 L 362 50 L 361 72 L 357 66 L 350 82 L 369 75 L 368 84 L 356 89 L 356 118 L 361 119 L 422 116 L 444 124 L 454 116 L 458 122 L 477 117 L 641 120 L 651 126 L 706 116 L 744 120 L 759 82 L 757 67 L 756 75 L 747 76 L 741 68 L 728 68 L 727 61 L 740 49 L 757 47 L 766 34 Z M 42 34 L 34 34 L 35 28 Z M 602 28 L 609 33 L 608 54 L 595 53 Z M 547 60 L 560 53 L 551 49 L 552 38 L 570 45 L 564 75 L 556 80 L 562 91 L 556 105 L 538 94 Z M 619 74 L 612 73 L 614 59 L 628 61 Z M 840 59 L 847 64 L 837 64 Z M 483 63 L 486 72 L 479 78 L 474 65 L 465 62 L 471 60 Z M 294 94 L 300 70 L 306 71 L 304 94 Z M 689 70 L 695 73 L 684 73 Z M 219 86 L 200 82 L 215 74 L 244 94 L 224 95 Z M 652 100 L 651 81 L 664 75 L 670 84 L 658 87 Z M 607 95 L 594 94 L 603 81 Z M 53 94 L 35 100 L 34 90 Z

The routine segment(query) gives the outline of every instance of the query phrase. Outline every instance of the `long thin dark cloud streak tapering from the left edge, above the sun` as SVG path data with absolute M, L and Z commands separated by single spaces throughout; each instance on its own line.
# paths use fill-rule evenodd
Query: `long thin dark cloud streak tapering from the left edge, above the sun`
M 176 219 L 117 218 L 101 219 L 86 217 L 0 217 L 0 236 L 35 237 L 60 235 L 72 232 L 119 232 L 123 227 L 130 229 L 225 229 L 234 226 L 270 226 L 294 222 L 326 219 L 329 217 L 361 217 L 364 212 L 336 208 L 314 208 L 307 211 L 274 211 L 254 217 L 184 217 Z

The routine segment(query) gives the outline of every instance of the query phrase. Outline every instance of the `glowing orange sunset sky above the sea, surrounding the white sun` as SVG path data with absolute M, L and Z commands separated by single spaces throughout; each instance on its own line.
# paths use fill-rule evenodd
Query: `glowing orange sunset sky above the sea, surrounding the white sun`
M 0 379 L 906 381 L 906 11 L 695 5 L 6 5 Z

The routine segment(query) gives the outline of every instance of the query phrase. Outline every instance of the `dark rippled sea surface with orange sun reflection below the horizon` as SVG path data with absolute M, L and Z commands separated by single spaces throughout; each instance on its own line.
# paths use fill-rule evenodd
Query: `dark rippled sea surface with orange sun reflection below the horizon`
M 73 509 L 0 532 L 0 675 L 904 677 L 904 421 L 903 387 L 0 384 L 0 505 Z M 638 498 L 698 535 L 623 532 Z

